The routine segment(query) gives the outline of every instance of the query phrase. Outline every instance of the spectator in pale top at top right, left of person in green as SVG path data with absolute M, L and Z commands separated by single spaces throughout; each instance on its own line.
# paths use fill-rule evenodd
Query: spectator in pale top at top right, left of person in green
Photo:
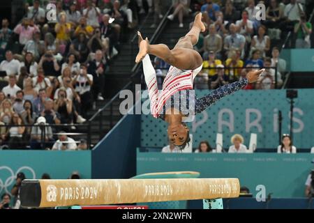
M 285 6 L 283 16 L 285 17 L 285 26 L 287 30 L 293 30 L 294 24 L 300 21 L 301 13 L 304 12 L 303 6 L 297 0 L 290 0 L 290 3 Z

